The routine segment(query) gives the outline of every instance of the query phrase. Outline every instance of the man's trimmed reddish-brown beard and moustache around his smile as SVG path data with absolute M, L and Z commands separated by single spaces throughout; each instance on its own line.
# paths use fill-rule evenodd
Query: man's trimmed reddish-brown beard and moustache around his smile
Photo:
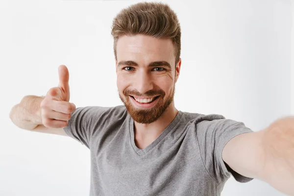
M 167 110 L 167 108 L 170 106 L 170 104 L 173 101 L 174 89 L 175 87 L 173 86 L 172 94 L 166 100 L 164 100 L 164 97 L 166 94 L 161 89 L 150 90 L 150 91 L 147 91 L 145 94 L 140 94 L 138 91 L 125 89 L 123 91 L 123 95 L 125 96 L 126 100 L 123 100 L 123 97 L 120 94 L 119 95 L 128 113 L 130 114 L 130 116 L 133 118 L 134 121 L 136 121 L 137 123 L 149 124 L 158 120 L 159 117 L 161 117 L 164 114 L 164 112 Z M 134 96 L 134 97 L 159 96 L 159 97 L 156 98 L 158 99 L 157 103 L 152 108 L 139 109 L 139 108 L 135 108 L 132 105 L 132 103 L 130 102 L 130 96 Z

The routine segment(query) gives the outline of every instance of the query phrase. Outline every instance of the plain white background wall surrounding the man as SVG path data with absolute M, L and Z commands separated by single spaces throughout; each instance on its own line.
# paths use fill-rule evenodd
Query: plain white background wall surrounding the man
M 70 137 L 20 129 L 9 112 L 25 95 L 57 86 L 61 64 L 77 107 L 122 104 L 110 30 L 116 14 L 136 2 L 0 1 L 1 196 L 89 195 L 89 149 Z M 294 114 L 291 0 L 168 3 L 182 27 L 177 109 L 222 114 L 254 131 Z M 265 182 L 230 178 L 222 196 L 237 195 L 284 196 Z

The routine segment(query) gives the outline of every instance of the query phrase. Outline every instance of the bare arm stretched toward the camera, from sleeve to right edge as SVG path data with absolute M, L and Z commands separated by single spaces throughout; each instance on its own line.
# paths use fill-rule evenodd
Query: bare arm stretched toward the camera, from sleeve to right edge
M 223 148 L 222 159 L 235 172 L 294 196 L 294 117 L 236 136 Z

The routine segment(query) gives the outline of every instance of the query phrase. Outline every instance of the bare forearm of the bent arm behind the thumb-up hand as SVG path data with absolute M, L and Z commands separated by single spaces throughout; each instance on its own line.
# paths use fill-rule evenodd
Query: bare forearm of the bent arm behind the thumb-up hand
M 9 113 L 11 121 L 26 130 L 32 130 L 42 124 L 40 103 L 43 99 L 44 97 L 25 96 L 11 109 Z

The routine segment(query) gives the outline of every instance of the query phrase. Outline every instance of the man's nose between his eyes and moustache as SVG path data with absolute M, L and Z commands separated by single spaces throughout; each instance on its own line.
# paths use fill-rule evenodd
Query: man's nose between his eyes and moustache
M 149 73 L 143 70 L 137 73 L 135 89 L 137 89 L 139 93 L 144 94 L 147 91 L 152 90 L 153 87 L 152 77 Z

